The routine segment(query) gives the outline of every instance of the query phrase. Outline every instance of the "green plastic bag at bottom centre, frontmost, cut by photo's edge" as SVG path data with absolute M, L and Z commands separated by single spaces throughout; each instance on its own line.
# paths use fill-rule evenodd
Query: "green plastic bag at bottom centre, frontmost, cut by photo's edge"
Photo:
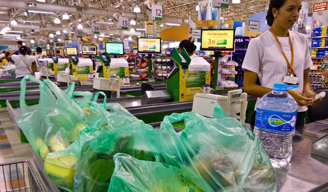
M 141 161 L 117 153 L 108 192 L 203 192 L 196 184 L 202 179 L 189 168 Z

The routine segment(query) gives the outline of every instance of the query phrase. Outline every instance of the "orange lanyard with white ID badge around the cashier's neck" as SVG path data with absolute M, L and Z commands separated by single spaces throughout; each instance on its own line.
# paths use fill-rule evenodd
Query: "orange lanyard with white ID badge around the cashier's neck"
M 286 59 L 286 62 L 287 62 L 287 67 L 288 67 L 288 74 L 286 76 L 284 76 L 284 83 L 286 84 L 292 84 L 292 85 L 297 85 L 298 84 L 298 78 L 296 76 L 296 73 L 293 69 L 293 64 L 294 64 L 294 49 L 293 49 L 293 43 L 292 43 L 292 38 L 290 37 L 290 33 L 288 32 L 288 36 L 289 36 L 289 42 L 290 42 L 290 50 L 291 50 L 291 55 L 292 55 L 292 62 L 289 63 L 288 61 L 288 58 L 284 52 L 284 50 L 282 49 L 282 46 L 279 42 L 279 39 L 276 35 L 276 33 L 273 31 L 272 28 L 270 28 L 270 31 L 272 32 L 273 36 L 275 37 L 280 49 L 281 49 L 281 52 L 283 54 L 283 56 L 285 57 Z

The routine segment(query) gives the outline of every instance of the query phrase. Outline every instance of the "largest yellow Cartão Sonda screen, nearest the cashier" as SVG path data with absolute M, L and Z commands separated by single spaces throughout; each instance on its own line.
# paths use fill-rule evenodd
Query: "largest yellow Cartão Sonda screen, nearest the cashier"
M 200 50 L 233 51 L 235 29 L 202 29 Z

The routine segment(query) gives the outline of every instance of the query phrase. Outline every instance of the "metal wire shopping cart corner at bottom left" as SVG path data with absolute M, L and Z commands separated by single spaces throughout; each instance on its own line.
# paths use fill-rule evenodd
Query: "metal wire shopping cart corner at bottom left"
M 46 192 L 30 161 L 0 164 L 0 192 Z

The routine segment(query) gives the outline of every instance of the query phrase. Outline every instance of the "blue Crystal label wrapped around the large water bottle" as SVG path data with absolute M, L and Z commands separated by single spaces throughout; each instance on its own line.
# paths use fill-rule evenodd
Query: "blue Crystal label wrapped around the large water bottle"
M 273 111 L 256 108 L 255 126 L 278 132 L 291 132 L 295 129 L 297 110 L 294 112 Z

